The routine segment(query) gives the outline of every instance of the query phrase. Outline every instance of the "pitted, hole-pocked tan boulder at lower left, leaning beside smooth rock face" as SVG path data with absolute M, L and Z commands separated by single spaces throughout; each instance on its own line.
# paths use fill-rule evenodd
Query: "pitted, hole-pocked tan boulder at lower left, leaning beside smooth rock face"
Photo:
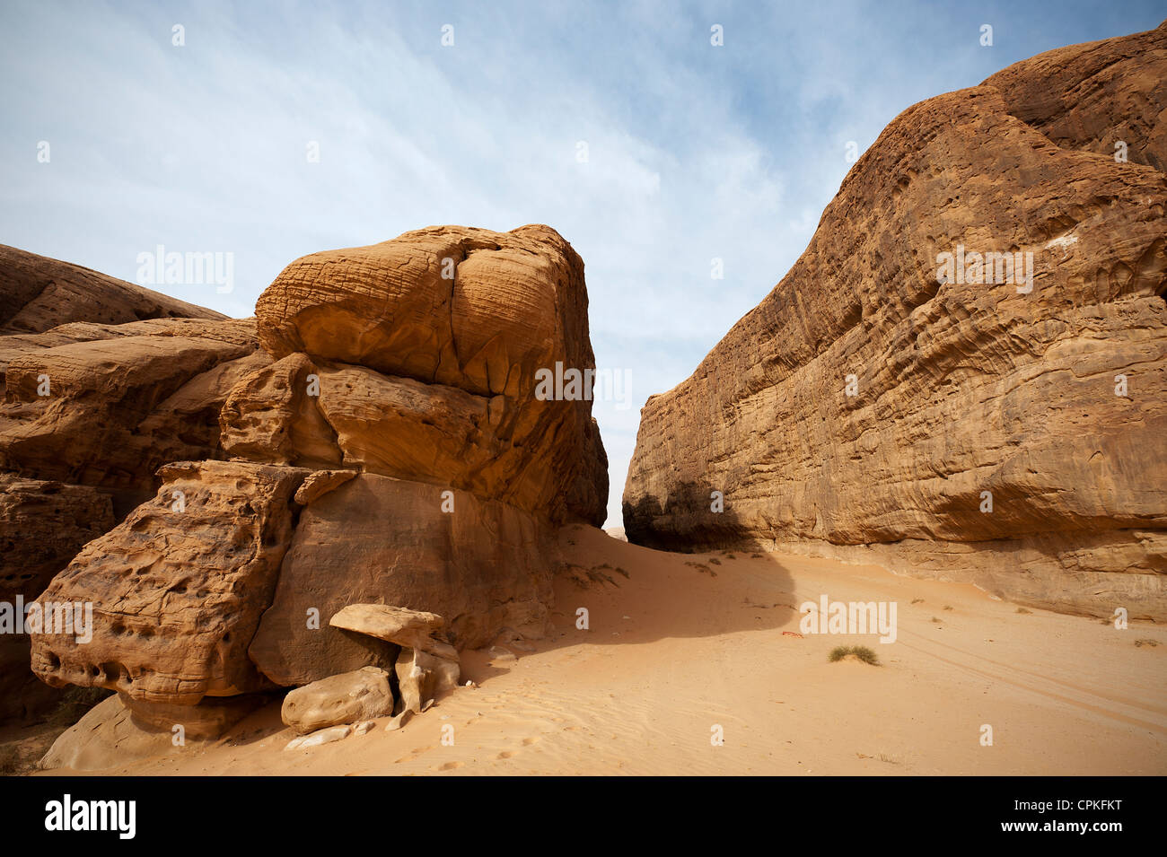
M 271 687 L 247 646 L 307 472 L 244 462 L 162 468 L 154 500 L 85 546 L 41 596 L 92 605 L 92 639 L 33 634 L 33 670 L 55 687 L 182 705 Z

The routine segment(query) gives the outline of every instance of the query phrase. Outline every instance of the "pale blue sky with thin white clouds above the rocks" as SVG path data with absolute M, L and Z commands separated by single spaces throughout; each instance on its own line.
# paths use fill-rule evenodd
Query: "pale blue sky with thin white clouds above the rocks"
M 1165 16 L 1162 0 L 5 0 L 0 244 L 131 282 L 158 245 L 231 254 L 229 291 L 145 285 L 244 317 L 307 253 L 553 226 L 586 265 L 598 368 L 627 378 L 593 409 L 621 526 L 641 406 L 782 279 L 896 114 Z

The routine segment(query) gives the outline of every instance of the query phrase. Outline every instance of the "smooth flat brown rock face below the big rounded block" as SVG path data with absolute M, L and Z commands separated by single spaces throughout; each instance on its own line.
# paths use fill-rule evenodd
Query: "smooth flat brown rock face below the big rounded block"
M 308 506 L 284 559 L 251 658 L 272 681 L 303 684 L 338 669 L 384 666 L 364 633 L 322 625 L 350 604 L 390 604 L 450 617 L 450 640 L 487 645 L 498 630 L 540 635 L 552 599 L 548 529 L 498 501 L 362 473 Z M 390 661 L 391 663 L 392 661 Z

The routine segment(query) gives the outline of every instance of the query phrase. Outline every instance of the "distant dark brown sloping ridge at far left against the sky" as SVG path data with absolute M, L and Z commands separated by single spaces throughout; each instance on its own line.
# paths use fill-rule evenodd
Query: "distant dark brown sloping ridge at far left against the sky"
M 41 333 L 69 322 L 225 317 L 79 265 L 0 244 L 0 336 Z

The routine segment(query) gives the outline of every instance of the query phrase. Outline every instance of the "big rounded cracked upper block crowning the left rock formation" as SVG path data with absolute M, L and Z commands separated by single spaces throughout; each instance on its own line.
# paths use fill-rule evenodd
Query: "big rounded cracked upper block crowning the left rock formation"
M 433 226 L 314 253 L 260 295 L 256 318 L 273 357 L 320 368 L 319 407 L 345 463 L 603 522 L 592 402 L 537 396 L 540 370 L 595 368 L 584 262 L 554 230 Z

